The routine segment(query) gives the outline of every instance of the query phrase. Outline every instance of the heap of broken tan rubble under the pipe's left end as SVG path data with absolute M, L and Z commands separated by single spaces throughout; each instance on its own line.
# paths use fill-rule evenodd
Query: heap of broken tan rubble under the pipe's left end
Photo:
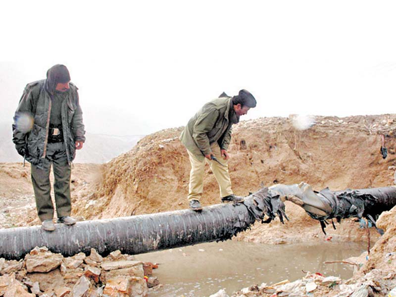
M 159 285 L 151 276 L 157 267 L 120 250 L 63 257 L 35 247 L 19 261 L 0 258 L 0 297 L 146 297 Z

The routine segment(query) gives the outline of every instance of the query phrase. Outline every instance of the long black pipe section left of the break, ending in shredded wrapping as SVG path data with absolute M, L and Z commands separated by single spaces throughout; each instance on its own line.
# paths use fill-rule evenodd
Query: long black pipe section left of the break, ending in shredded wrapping
M 249 228 L 256 220 L 283 221 L 285 205 L 268 195 L 268 188 L 245 198 L 243 204 L 217 204 L 201 212 L 190 209 L 130 217 L 77 222 L 73 226 L 57 224 L 46 232 L 39 226 L 0 230 L 0 258 L 20 259 L 34 247 L 46 246 L 55 253 L 71 256 L 101 255 L 116 249 L 127 254 L 224 241 Z

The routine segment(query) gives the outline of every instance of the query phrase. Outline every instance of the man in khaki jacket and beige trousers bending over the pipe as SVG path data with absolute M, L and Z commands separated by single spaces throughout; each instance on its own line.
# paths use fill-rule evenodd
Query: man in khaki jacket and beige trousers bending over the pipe
M 202 210 L 199 199 L 203 192 L 205 160 L 219 184 L 221 201 L 244 201 L 244 198 L 235 196 L 231 189 L 227 149 L 232 125 L 255 106 L 256 99 L 247 90 L 239 91 L 234 97 L 223 93 L 203 105 L 184 128 L 180 140 L 187 148 L 191 163 L 188 195 L 191 209 Z

